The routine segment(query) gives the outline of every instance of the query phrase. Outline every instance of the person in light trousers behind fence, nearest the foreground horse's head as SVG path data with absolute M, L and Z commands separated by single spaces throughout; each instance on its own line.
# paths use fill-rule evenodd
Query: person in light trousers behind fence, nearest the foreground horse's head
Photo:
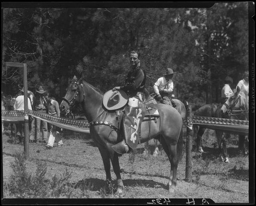
M 56 100 L 53 100 L 52 95 L 49 93 L 46 94 L 45 98 L 47 101 L 47 109 L 49 115 L 60 117 L 59 103 Z M 55 125 L 50 125 L 50 128 L 50 136 L 46 147 L 49 149 L 53 148 L 55 140 L 58 146 L 62 146 L 63 142 L 61 140 L 61 135 L 59 133 L 60 128 L 56 127 Z

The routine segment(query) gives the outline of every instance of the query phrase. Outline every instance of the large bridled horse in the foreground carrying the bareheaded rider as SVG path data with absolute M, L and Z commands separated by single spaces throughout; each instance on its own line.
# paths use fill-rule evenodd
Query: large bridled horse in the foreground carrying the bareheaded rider
M 103 95 L 92 85 L 73 78 L 67 88 L 67 93 L 60 104 L 62 112 L 67 112 L 75 103 L 80 103 L 87 120 L 90 123 L 90 134 L 98 147 L 106 173 L 106 189 L 111 185 L 110 161 L 117 177 L 117 194 L 123 193 L 123 181 L 120 175 L 118 154 L 112 149 L 117 143 L 118 117 L 116 111 L 108 111 L 102 104 Z M 177 184 L 177 167 L 182 157 L 182 118 L 179 112 L 165 104 L 156 105 L 159 113 L 159 121 L 145 121 L 141 124 L 141 143 L 152 138 L 158 138 L 161 134 L 161 142 L 166 152 L 170 165 L 170 176 L 167 187 L 169 192 L 175 192 Z M 93 123 L 93 124 L 92 124 Z

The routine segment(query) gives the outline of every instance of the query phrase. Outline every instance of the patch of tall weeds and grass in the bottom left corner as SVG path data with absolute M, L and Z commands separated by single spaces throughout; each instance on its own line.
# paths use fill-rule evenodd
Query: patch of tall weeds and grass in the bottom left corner
M 8 182 L 4 183 L 5 198 L 81 198 L 89 197 L 87 190 L 90 185 L 71 187 L 69 184 L 71 172 L 66 168 L 58 177 L 47 178 L 47 164 L 36 160 L 35 176 L 27 172 L 25 155 L 17 153 L 15 161 L 11 163 L 13 174 Z M 83 182 L 84 183 L 84 182 Z

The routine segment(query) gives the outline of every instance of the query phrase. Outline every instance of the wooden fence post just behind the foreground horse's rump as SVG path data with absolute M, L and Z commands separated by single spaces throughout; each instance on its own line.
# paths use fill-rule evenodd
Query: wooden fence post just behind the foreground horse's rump
M 191 106 L 185 102 L 187 117 L 187 137 L 186 137 L 186 173 L 185 180 L 192 179 L 192 142 L 193 142 L 193 124 L 191 117 Z

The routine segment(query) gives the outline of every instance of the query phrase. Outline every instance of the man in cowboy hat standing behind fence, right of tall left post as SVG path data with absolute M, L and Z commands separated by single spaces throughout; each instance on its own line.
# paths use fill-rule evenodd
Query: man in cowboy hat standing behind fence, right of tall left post
M 45 99 L 46 91 L 42 86 L 38 87 L 36 90 L 35 95 L 35 110 L 40 111 L 42 113 L 47 113 L 47 102 Z M 36 133 L 35 133 L 35 142 L 41 142 L 40 139 L 40 126 L 42 127 L 42 142 L 48 142 L 48 129 L 47 129 L 47 122 L 41 121 L 40 119 L 36 118 Z

